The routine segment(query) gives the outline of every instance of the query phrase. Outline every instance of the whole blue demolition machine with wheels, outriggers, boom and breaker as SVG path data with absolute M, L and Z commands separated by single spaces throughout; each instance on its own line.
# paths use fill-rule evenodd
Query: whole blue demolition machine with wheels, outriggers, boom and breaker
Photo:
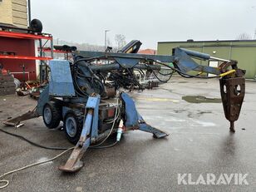
M 140 44 L 133 43 L 127 52 L 138 49 Z M 192 58 L 218 61 L 221 64 L 218 68 L 203 66 Z M 97 64 L 99 62 L 101 65 Z M 170 62 L 173 65 L 166 64 Z M 244 101 L 245 71 L 238 68 L 236 61 L 211 57 L 183 48 L 173 49 L 171 56 L 76 52 L 73 62 L 52 60 L 49 66 L 50 80 L 42 91 L 35 110 L 4 123 L 18 126 L 21 121 L 42 116 L 45 125 L 52 129 L 63 121 L 67 139 L 76 144 L 66 165 L 59 167 L 67 172 L 80 170 L 83 166 L 81 157 L 86 149 L 89 146 L 101 145 L 111 134 L 116 133 L 116 142 L 126 130 L 143 130 L 152 133 L 155 138 L 168 135 L 146 124 L 128 94 L 116 94 L 120 87 L 141 88 L 135 78 L 135 71 L 144 75 L 154 74 L 157 78 L 158 75 L 170 77 L 174 72 L 187 78 L 219 78 L 224 114 L 230 121 L 230 131 L 234 131 L 234 121 L 238 120 Z M 160 70 L 163 67 L 171 72 L 162 73 Z M 198 71 L 199 74 L 190 75 L 190 71 Z M 202 72 L 215 76 L 200 76 Z M 106 100 L 110 97 L 115 97 L 115 104 Z

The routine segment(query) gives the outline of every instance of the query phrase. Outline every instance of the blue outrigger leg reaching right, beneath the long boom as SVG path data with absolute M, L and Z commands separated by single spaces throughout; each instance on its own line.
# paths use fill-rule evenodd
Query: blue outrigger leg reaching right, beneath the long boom
M 125 125 L 126 130 L 142 130 L 148 133 L 152 133 L 155 138 L 163 138 L 169 134 L 162 130 L 156 129 L 145 123 L 142 116 L 138 113 L 135 107 L 135 102 L 126 93 L 121 93 L 121 99 L 125 106 Z

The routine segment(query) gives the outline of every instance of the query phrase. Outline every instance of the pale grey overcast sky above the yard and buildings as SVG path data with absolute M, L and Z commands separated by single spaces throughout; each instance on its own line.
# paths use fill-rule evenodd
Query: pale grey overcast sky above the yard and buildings
M 157 42 L 254 37 L 255 0 L 31 0 L 32 18 L 55 39 L 104 45 L 104 31 L 116 45 L 139 39 L 143 48 Z

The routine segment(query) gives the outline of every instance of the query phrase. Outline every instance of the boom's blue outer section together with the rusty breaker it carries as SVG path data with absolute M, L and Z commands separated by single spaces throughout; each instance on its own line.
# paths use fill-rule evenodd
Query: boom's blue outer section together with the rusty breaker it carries
M 224 107 L 224 114 L 230 121 L 230 131 L 234 132 L 234 121 L 239 119 L 239 113 L 244 101 L 245 71 L 238 68 L 236 61 L 229 61 L 217 57 L 211 57 L 205 53 L 193 52 L 186 49 L 174 49 L 175 67 L 179 68 L 180 75 L 188 71 L 199 71 L 219 76 L 220 94 Z M 192 60 L 195 57 L 201 60 L 213 60 L 222 62 L 218 68 L 202 66 Z

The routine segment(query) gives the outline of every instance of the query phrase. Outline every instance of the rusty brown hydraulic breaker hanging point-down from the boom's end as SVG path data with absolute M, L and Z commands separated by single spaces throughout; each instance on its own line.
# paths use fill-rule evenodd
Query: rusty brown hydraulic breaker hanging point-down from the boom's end
M 244 101 L 245 79 L 244 77 L 221 78 L 219 84 L 225 117 L 230 121 L 229 130 L 235 132 L 234 121 L 239 119 Z

